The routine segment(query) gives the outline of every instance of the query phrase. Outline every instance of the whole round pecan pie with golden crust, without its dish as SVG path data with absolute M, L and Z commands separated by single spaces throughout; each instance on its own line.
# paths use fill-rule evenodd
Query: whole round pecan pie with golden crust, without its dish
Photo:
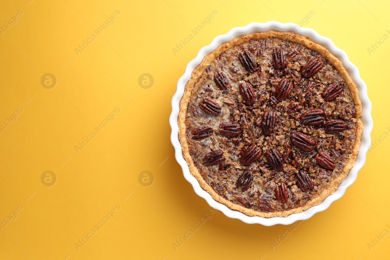
M 355 164 L 358 90 L 323 46 L 289 32 L 236 38 L 188 81 L 179 138 L 191 174 L 218 202 L 250 216 L 319 204 Z

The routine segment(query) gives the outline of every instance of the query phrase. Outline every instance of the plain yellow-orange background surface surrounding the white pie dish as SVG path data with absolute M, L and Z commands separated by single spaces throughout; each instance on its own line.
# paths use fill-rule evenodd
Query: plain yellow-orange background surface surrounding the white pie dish
M 18 205 L 23 210 L 0 231 L 0 259 L 388 259 L 390 235 L 367 246 L 390 232 L 390 40 L 367 51 L 390 36 L 388 2 L 127 1 L 1 4 L 1 26 L 18 10 L 23 15 L 0 35 L 0 123 L 23 112 L 0 133 L 0 221 Z M 114 23 L 96 35 L 115 10 Z M 211 24 L 174 55 L 172 48 L 213 10 Z M 295 230 L 248 225 L 217 210 L 195 231 L 191 225 L 211 208 L 174 158 L 168 117 L 176 82 L 217 35 L 270 20 L 303 21 L 346 51 L 368 87 L 372 139 L 383 141 L 345 195 Z M 91 34 L 96 39 L 77 55 Z M 46 73 L 57 78 L 54 88 L 41 85 Z M 154 78 L 149 89 L 138 85 L 143 73 Z M 115 108 L 115 120 L 97 133 Z M 96 136 L 77 152 L 92 131 Z M 41 182 L 47 170 L 57 176 L 54 186 Z M 138 182 L 145 170 L 154 176 L 148 187 Z M 115 205 L 115 218 L 78 250 L 75 243 Z M 189 229 L 194 233 L 175 251 L 172 244 Z M 287 229 L 291 234 L 272 248 Z

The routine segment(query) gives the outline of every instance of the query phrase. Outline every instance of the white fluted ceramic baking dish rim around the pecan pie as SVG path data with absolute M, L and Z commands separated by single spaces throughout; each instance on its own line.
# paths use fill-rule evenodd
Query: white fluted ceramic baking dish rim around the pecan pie
M 183 157 L 183 152 L 179 142 L 179 127 L 177 125 L 177 118 L 179 115 L 180 100 L 183 97 L 184 93 L 184 87 L 188 80 L 190 80 L 192 71 L 200 64 L 200 62 L 202 62 L 205 55 L 214 51 L 221 44 L 229 42 L 234 38 L 253 34 L 255 32 L 267 32 L 269 30 L 279 32 L 294 32 L 296 34 L 308 37 L 310 38 L 310 40 L 324 46 L 342 62 L 342 65 L 349 73 L 349 76 L 351 76 L 352 80 L 358 86 L 359 98 L 362 101 L 363 105 L 363 114 L 361 119 L 364 128 L 355 166 L 351 168 L 347 175 L 347 178 L 339 185 L 339 187 L 337 187 L 336 191 L 332 195 L 326 197 L 320 204 L 314 207 L 310 207 L 309 209 L 301 213 L 290 214 L 287 217 L 261 218 L 259 216 L 247 216 L 242 212 L 239 212 L 238 210 L 230 209 L 224 204 L 216 202 L 211 197 L 211 195 L 209 195 L 209 193 L 207 193 L 204 189 L 202 189 L 202 187 L 200 187 L 197 179 L 191 175 L 190 169 L 188 168 L 188 165 Z M 195 193 L 204 198 L 211 207 L 221 210 L 223 214 L 225 214 L 229 218 L 241 219 L 245 223 L 259 223 L 264 226 L 272 226 L 275 224 L 289 225 L 298 220 L 308 219 L 317 212 L 321 212 L 327 209 L 332 202 L 338 200 L 342 197 L 342 195 L 344 195 L 347 187 L 351 186 L 355 182 L 359 170 L 363 167 L 365 163 L 365 156 L 371 145 L 370 134 L 373 127 L 373 122 L 371 118 L 371 107 L 371 101 L 367 96 L 367 86 L 360 78 L 358 68 L 354 64 L 352 64 L 352 62 L 349 61 L 347 54 L 337 48 L 330 39 L 320 36 L 313 29 L 301 28 L 294 23 L 278 23 L 276 21 L 269 21 L 267 23 L 250 23 L 245 27 L 236 27 L 230 30 L 227 34 L 215 37 L 209 45 L 200 49 L 198 55 L 187 64 L 183 76 L 181 76 L 177 81 L 176 93 L 172 97 L 172 113 L 169 117 L 169 124 L 172 128 L 171 142 L 172 145 L 175 147 L 176 160 L 183 169 L 184 178 L 186 178 L 186 180 L 188 180 L 188 182 L 192 184 Z

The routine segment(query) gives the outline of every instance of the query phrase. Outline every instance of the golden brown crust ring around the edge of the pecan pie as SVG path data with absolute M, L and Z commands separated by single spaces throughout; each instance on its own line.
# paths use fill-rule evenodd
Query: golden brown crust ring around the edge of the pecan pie
M 332 180 L 332 182 L 329 183 L 328 189 L 324 190 L 319 196 L 316 198 L 313 198 L 310 200 L 308 203 L 306 203 L 302 207 L 294 208 L 291 210 L 285 210 L 281 212 L 259 212 L 255 211 L 252 209 L 247 209 L 241 205 L 238 205 L 236 203 L 232 203 L 229 200 L 226 200 L 222 196 L 220 196 L 218 193 L 214 191 L 214 189 L 209 186 L 205 180 L 202 178 L 202 175 L 200 175 L 198 169 L 195 167 L 193 160 L 189 154 L 189 149 L 188 149 L 188 143 L 186 140 L 186 125 L 184 123 L 185 117 L 186 117 L 186 112 L 187 112 L 187 105 L 191 96 L 191 90 L 194 87 L 195 83 L 198 81 L 199 77 L 203 73 L 203 71 L 211 64 L 211 62 L 220 56 L 221 53 L 224 51 L 229 50 L 230 48 L 237 46 L 239 44 L 243 44 L 245 42 L 248 42 L 250 39 L 266 39 L 269 37 L 275 37 L 278 39 L 284 39 L 284 40 L 289 40 L 292 42 L 296 42 L 299 44 L 302 44 L 306 46 L 307 48 L 310 48 L 311 50 L 315 50 L 318 53 L 320 53 L 324 58 L 326 58 L 330 64 L 332 64 L 340 73 L 340 75 L 344 78 L 346 82 L 349 82 L 348 87 L 349 90 L 351 91 L 351 96 L 355 102 L 355 109 L 356 109 L 356 119 L 357 119 L 357 130 L 356 130 L 356 141 L 355 141 L 355 147 L 352 150 L 352 154 L 349 156 L 349 161 L 347 162 L 346 166 L 344 166 L 344 169 L 342 170 L 340 176 L 338 178 L 335 178 Z M 212 53 L 206 55 L 200 63 L 200 65 L 193 70 L 192 75 L 188 83 L 186 84 L 185 91 L 183 98 L 181 99 L 180 102 L 180 111 L 179 111 L 179 119 L 178 119 L 178 125 L 179 125 L 179 140 L 183 149 L 183 156 L 184 159 L 186 159 L 187 164 L 190 168 L 191 175 L 193 175 L 199 182 L 200 186 L 205 189 L 214 200 L 225 204 L 228 206 L 230 209 L 235 209 L 243 212 L 246 215 L 249 216 L 261 216 L 261 217 L 275 217 L 275 216 L 288 216 L 289 214 L 292 213 L 298 213 L 302 212 L 303 210 L 306 210 L 312 206 L 318 205 L 321 203 L 324 198 L 326 198 L 328 195 L 332 194 L 337 186 L 339 186 L 340 182 L 342 182 L 349 170 L 352 168 L 352 166 L 355 164 L 356 160 L 356 155 L 359 150 L 360 146 L 360 137 L 362 135 L 363 131 L 363 124 L 362 121 L 360 120 L 360 117 L 362 116 L 362 103 L 360 102 L 360 99 L 358 97 L 358 89 L 353 83 L 352 79 L 349 77 L 346 69 L 342 66 L 341 62 L 339 59 L 337 59 L 332 53 L 330 53 L 326 48 L 323 46 L 316 44 L 315 42 L 310 41 L 306 37 L 303 37 L 301 35 L 297 34 L 292 34 L 289 32 L 274 32 L 274 31 L 269 31 L 269 32 L 262 32 L 262 33 L 255 33 L 255 34 L 249 34 L 244 37 L 239 37 L 236 39 L 233 39 L 230 42 L 227 42 L 225 44 L 222 44 L 219 46 L 215 51 Z

